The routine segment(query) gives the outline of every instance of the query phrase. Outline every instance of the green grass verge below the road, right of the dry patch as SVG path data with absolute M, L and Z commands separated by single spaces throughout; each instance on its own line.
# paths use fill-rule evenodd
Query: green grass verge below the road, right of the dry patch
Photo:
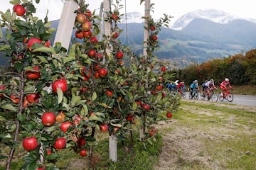
M 203 132 L 206 137 L 195 135 L 203 142 L 210 162 L 216 162 L 216 169 L 255 169 L 256 167 L 256 114 L 232 106 L 218 106 L 213 103 L 182 101 L 175 117 L 175 128 L 191 128 Z M 181 165 L 179 169 L 186 169 Z M 195 162 L 190 169 L 198 169 Z

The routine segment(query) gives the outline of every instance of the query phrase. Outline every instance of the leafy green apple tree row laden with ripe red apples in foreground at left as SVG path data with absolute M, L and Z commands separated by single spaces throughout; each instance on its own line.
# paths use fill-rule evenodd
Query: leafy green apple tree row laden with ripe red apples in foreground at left
M 12 12 L 1 12 L 5 31 L 0 37 L 0 51 L 11 59 L 0 76 L 0 140 L 9 146 L 6 169 L 21 141 L 28 152 L 23 169 L 54 167 L 59 149 L 90 157 L 90 142 L 100 131 L 124 139 L 143 129 L 143 142 L 151 142 L 156 133 L 152 125 L 178 107 L 178 99 L 164 89 L 169 75 L 154 56 L 156 37 L 147 42 L 148 56 L 134 55 L 118 39 L 122 15 L 117 6 L 104 18 L 112 23 L 111 35 L 97 40 L 95 19 L 100 18 L 82 1 L 75 11 L 76 39 L 67 50 L 59 42 L 51 45 L 54 30 L 47 18 L 33 16 L 31 1 L 11 3 Z M 146 28 L 152 36 L 169 21 L 168 16 L 158 23 L 148 19 L 155 26 Z

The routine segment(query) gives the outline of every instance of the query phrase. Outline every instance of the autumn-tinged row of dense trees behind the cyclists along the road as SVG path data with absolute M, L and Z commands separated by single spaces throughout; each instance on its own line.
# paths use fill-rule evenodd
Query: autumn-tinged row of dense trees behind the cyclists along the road
M 175 79 L 191 84 L 197 79 L 200 84 L 214 79 L 215 84 L 228 77 L 233 85 L 256 84 L 256 49 L 223 59 L 209 60 L 202 64 L 191 64 L 184 69 L 171 70 Z

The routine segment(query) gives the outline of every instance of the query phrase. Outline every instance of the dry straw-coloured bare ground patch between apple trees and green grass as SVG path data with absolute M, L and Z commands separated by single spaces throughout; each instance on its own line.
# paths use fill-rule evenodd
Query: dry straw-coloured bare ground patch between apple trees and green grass
M 227 106 L 225 104 L 218 104 L 218 106 L 237 108 L 256 113 L 256 107 Z M 235 115 L 230 115 L 226 118 L 220 111 L 213 112 L 207 108 L 198 109 L 186 105 L 181 106 L 181 109 L 183 111 L 189 111 L 191 114 L 225 118 L 225 124 L 223 123 L 223 126 L 213 126 L 208 128 L 208 130 L 204 130 L 200 128 L 188 128 L 179 123 L 179 120 L 174 119 L 167 122 L 159 122 L 156 128 L 160 131 L 164 130 L 164 146 L 159 156 L 159 164 L 154 167 L 155 170 L 184 169 L 184 167 L 186 167 L 185 169 L 225 169 L 225 162 L 218 162 L 217 159 L 212 159 L 208 155 L 205 143 L 201 142 L 201 139 L 210 141 L 234 139 L 236 136 L 229 135 L 229 132 L 240 126 L 242 127 L 242 132 L 256 132 L 256 130 L 248 130 L 250 128 L 246 125 L 235 123 Z

